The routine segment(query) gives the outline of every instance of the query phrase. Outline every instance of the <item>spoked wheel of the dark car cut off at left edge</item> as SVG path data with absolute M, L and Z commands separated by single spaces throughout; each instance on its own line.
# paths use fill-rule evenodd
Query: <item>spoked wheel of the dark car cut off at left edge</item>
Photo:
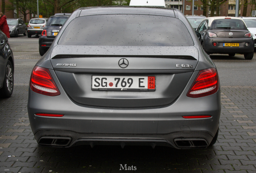
M 0 89 L 1 97 L 10 97 L 13 91 L 13 67 L 12 63 L 8 60 L 4 75 L 4 83 L 2 89 Z

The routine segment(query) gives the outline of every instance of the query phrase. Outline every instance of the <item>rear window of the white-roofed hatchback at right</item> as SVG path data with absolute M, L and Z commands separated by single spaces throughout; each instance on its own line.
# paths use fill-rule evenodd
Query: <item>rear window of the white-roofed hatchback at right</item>
M 238 29 L 244 30 L 246 26 L 242 20 L 239 19 L 215 19 L 212 22 L 211 29 Z

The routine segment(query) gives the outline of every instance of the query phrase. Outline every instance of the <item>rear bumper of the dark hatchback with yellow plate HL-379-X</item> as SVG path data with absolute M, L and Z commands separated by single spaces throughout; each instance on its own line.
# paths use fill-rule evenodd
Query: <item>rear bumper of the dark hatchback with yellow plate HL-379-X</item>
M 213 46 L 213 42 L 217 42 L 217 46 Z M 248 42 L 249 46 L 245 46 Z M 239 47 L 225 47 L 223 43 L 239 43 Z M 206 52 L 219 53 L 219 54 L 229 54 L 229 53 L 249 53 L 254 51 L 254 40 L 252 38 L 219 38 L 213 37 L 209 38 L 206 36 L 204 39 L 204 48 Z

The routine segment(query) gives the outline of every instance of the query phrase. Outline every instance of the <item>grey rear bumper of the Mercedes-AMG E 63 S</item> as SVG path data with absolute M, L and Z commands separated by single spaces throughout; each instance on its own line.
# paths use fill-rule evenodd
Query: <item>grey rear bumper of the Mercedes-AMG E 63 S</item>
M 181 149 L 182 147 L 175 145 L 175 139 L 203 139 L 208 146 L 219 127 L 220 90 L 213 95 L 194 99 L 186 96 L 188 89 L 185 89 L 174 103 L 157 109 L 89 107 L 70 100 L 54 72 L 50 71 L 57 81 L 61 93 L 59 96 L 40 95 L 29 89 L 29 121 L 39 143 L 47 137 L 64 137 L 70 141 L 58 147 L 132 144 L 164 145 Z M 188 85 L 191 85 L 195 77 L 196 74 L 193 74 Z M 64 116 L 42 117 L 35 115 L 36 113 Z M 212 117 L 184 119 L 184 115 Z

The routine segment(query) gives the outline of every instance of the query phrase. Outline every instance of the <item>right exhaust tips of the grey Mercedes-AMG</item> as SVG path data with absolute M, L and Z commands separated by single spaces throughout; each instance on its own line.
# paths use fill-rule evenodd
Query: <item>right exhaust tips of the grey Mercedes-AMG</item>
M 201 138 L 180 138 L 174 139 L 175 145 L 180 148 L 206 148 L 208 143 Z

